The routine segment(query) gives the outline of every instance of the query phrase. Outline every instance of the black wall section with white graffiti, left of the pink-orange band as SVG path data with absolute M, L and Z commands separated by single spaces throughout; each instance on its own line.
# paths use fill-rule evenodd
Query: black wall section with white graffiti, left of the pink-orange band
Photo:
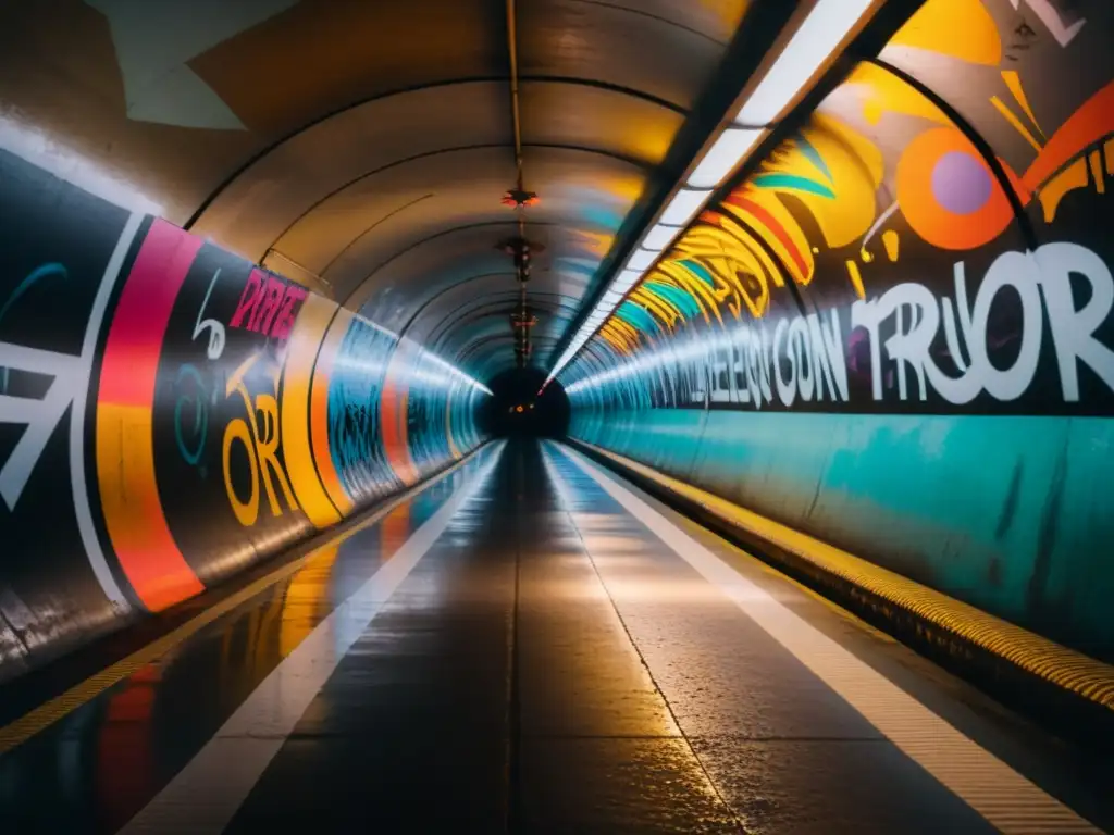
M 130 608 L 98 537 L 85 430 L 96 334 L 139 224 L 0 151 L 0 669 Z

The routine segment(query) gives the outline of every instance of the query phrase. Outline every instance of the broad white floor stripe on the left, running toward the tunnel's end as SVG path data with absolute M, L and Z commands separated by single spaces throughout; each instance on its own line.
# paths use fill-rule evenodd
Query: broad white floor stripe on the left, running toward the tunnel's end
M 310 632 L 119 835 L 224 832 L 310 703 L 391 595 L 444 533 L 460 505 L 487 481 L 502 449 L 500 444 L 471 483 L 461 487 L 374 576 Z

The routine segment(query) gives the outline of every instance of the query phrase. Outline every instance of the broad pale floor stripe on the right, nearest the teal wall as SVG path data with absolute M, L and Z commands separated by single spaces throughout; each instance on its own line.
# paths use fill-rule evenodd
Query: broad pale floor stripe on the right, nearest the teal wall
M 580 453 L 567 446 L 559 450 L 895 746 L 999 832 L 1102 832 L 737 573 Z

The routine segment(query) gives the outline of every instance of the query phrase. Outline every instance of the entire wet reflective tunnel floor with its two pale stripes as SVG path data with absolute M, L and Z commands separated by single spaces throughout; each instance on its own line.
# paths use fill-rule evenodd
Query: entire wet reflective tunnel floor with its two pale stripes
M 517 442 L 0 754 L 0 833 L 1098 832 L 1107 776 Z

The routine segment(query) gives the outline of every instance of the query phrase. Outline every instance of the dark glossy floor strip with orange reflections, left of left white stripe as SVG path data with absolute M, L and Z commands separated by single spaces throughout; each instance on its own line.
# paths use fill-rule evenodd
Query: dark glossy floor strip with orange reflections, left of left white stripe
M 16 832 L 115 833 L 473 471 L 316 549 L 289 579 L 0 755 L 0 819 L 20 822 Z

